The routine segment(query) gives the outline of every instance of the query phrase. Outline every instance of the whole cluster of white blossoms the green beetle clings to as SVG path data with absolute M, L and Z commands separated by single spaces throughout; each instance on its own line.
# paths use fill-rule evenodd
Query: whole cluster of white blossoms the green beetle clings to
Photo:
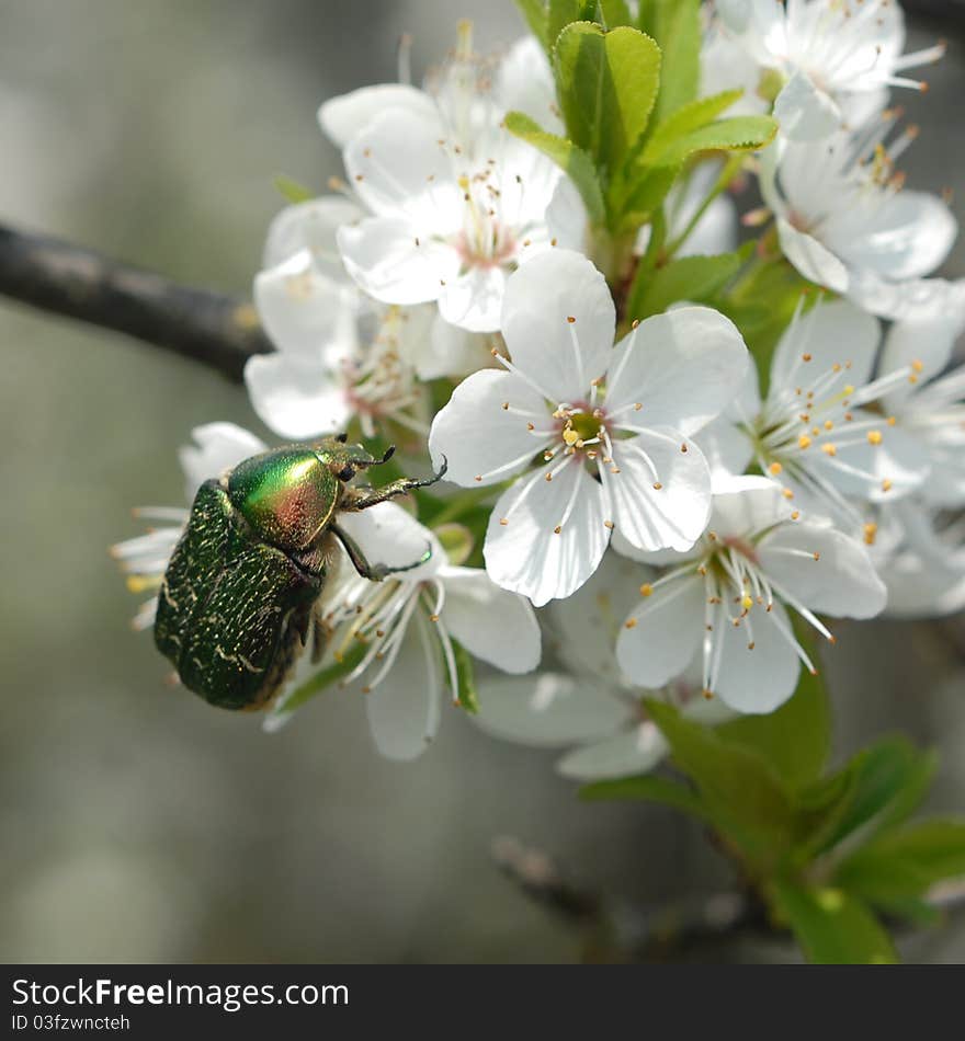
M 574 137 L 572 28 L 484 58 L 464 25 L 423 87 L 319 110 L 345 175 L 269 229 L 254 300 L 275 352 L 248 363 L 251 404 L 281 441 L 352 430 L 447 469 L 418 505 L 354 518 L 370 559 L 431 556 L 381 583 L 339 569 L 326 657 L 269 725 L 331 676 L 412 758 L 477 659 L 514 674 L 474 691 L 483 728 L 622 776 L 665 752 L 645 694 L 708 722 L 770 712 L 828 619 L 965 606 L 965 282 L 933 276 L 957 226 L 905 187 L 917 131 L 888 107 L 941 45 L 904 53 L 889 0 L 718 0 L 695 98 L 627 149 L 668 184 L 613 220 L 552 144 Z M 776 134 L 660 165 L 701 105 Z M 264 448 L 229 424 L 195 441 L 189 496 Z M 135 582 L 185 516 L 117 547 Z

